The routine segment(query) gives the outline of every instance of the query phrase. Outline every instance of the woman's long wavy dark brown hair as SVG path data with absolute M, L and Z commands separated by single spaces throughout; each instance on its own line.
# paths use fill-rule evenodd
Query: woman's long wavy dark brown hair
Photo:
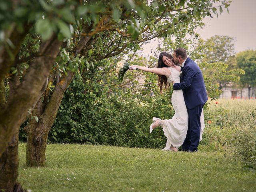
M 172 55 L 168 52 L 161 52 L 158 58 L 158 64 L 157 68 L 162 68 L 162 67 L 168 67 L 166 64 L 163 62 L 163 56 L 166 56 L 174 62 Z M 162 92 L 162 88 L 165 87 L 166 89 L 170 86 L 170 83 L 167 82 L 167 77 L 165 75 L 158 75 L 158 84 L 160 86 L 160 92 Z

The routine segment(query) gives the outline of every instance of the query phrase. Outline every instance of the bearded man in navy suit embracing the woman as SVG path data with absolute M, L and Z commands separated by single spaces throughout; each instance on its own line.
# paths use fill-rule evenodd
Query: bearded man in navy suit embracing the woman
M 207 98 L 202 71 L 192 59 L 187 57 L 184 48 L 174 50 L 175 64 L 181 65 L 180 83 L 174 83 L 173 89 L 182 89 L 188 110 L 188 132 L 182 144 L 182 150 L 196 152 L 200 139 L 200 116 Z

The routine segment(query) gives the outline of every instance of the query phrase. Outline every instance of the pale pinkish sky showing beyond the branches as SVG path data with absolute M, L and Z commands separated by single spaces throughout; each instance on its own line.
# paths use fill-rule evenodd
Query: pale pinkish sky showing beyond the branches
M 222 14 L 204 18 L 204 29 L 198 31 L 201 38 L 206 40 L 214 35 L 230 36 L 236 39 L 235 51 L 246 49 L 256 50 L 256 0 L 232 0 L 228 7 L 229 13 L 223 9 Z M 152 55 L 150 49 L 157 46 L 158 40 L 152 40 L 143 45 L 143 55 Z

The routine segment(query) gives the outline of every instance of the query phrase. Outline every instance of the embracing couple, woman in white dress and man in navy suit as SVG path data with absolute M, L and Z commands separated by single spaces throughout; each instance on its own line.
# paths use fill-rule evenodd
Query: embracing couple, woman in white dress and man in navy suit
M 173 86 L 172 105 L 175 114 L 172 119 L 153 118 L 150 133 L 154 128 L 162 127 L 167 138 L 163 150 L 178 151 L 182 146 L 183 151 L 196 152 L 204 130 L 202 109 L 208 99 L 202 71 L 196 62 L 187 57 L 184 48 L 178 48 L 173 55 L 160 53 L 157 68 L 130 66 L 131 70 L 134 68 L 158 74 L 160 90 L 170 84 Z

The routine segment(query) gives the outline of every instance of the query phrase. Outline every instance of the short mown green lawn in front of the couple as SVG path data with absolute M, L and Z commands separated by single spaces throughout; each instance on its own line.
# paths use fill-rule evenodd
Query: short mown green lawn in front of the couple
M 220 152 L 48 144 L 46 167 L 25 161 L 21 143 L 18 181 L 32 192 L 256 191 L 256 174 Z

